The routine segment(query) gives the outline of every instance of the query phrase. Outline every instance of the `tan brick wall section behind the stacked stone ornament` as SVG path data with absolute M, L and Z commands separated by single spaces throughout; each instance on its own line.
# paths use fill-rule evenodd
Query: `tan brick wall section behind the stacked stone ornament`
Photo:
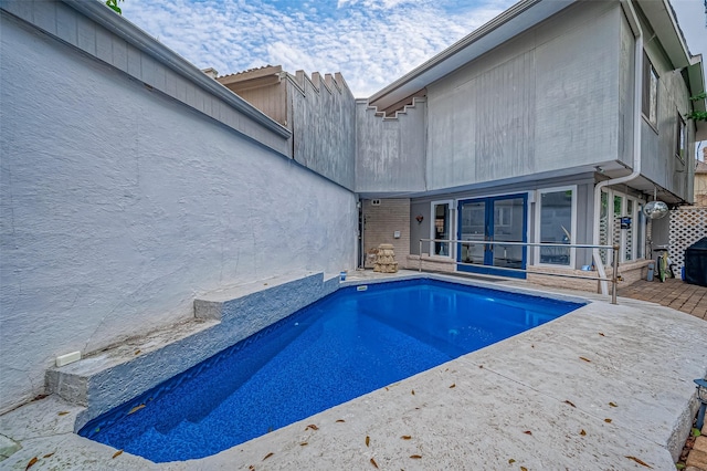
M 398 268 L 408 265 L 410 254 L 410 199 L 379 199 L 379 206 L 363 200 L 363 251 L 370 253 L 381 243 L 392 243 Z M 400 239 L 393 237 L 400 231 Z M 366 258 L 366 268 L 373 268 L 371 258 Z

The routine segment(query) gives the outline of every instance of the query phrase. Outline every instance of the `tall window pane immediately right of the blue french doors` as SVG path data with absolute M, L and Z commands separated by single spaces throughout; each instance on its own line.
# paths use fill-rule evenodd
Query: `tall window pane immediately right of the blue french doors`
M 540 197 L 540 242 L 571 243 L 572 190 L 542 193 Z M 570 264 L 570 249 L 540 248 L 540 263 Z

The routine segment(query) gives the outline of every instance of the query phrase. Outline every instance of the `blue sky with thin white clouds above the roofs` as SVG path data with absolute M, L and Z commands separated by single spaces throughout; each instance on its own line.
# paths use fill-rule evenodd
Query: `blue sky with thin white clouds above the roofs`
M 707 59 L 703 0 L 671 0 L 690 51 Z M 125 0 L 123 15 L 221 75 L 282 65 L 341 72 L 370 96 L 516 0 Z

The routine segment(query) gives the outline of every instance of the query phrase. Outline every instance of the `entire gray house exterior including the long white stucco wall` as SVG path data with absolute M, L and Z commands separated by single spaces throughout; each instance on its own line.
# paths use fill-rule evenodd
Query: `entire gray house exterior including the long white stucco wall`
M 643 206 L 693 199 L 703 64 L 664 0 L 523 0 L 367 100 L 339 74 L 214 80 L 97 1 L 0 21 L 0 414 L 60 355 L 380 243 L 528 278 L 609 259 L 504 242 L 615 243 L 637 276 L 668 242 Z

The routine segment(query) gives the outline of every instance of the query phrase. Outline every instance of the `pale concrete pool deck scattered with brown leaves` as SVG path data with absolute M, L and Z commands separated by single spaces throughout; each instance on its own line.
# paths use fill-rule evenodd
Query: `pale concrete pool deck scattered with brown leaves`
M 693 379 L 707 373 L 707 323 L 572 294 L 593 302 L 201 460 L 113 458 L 118 450 L 73 433 L 83 408 L 50 396 L 0 417 L 0 446 L 22 447 L 0 469 L 35 457 L 31 469 L 675 469 L 697 407 Z

